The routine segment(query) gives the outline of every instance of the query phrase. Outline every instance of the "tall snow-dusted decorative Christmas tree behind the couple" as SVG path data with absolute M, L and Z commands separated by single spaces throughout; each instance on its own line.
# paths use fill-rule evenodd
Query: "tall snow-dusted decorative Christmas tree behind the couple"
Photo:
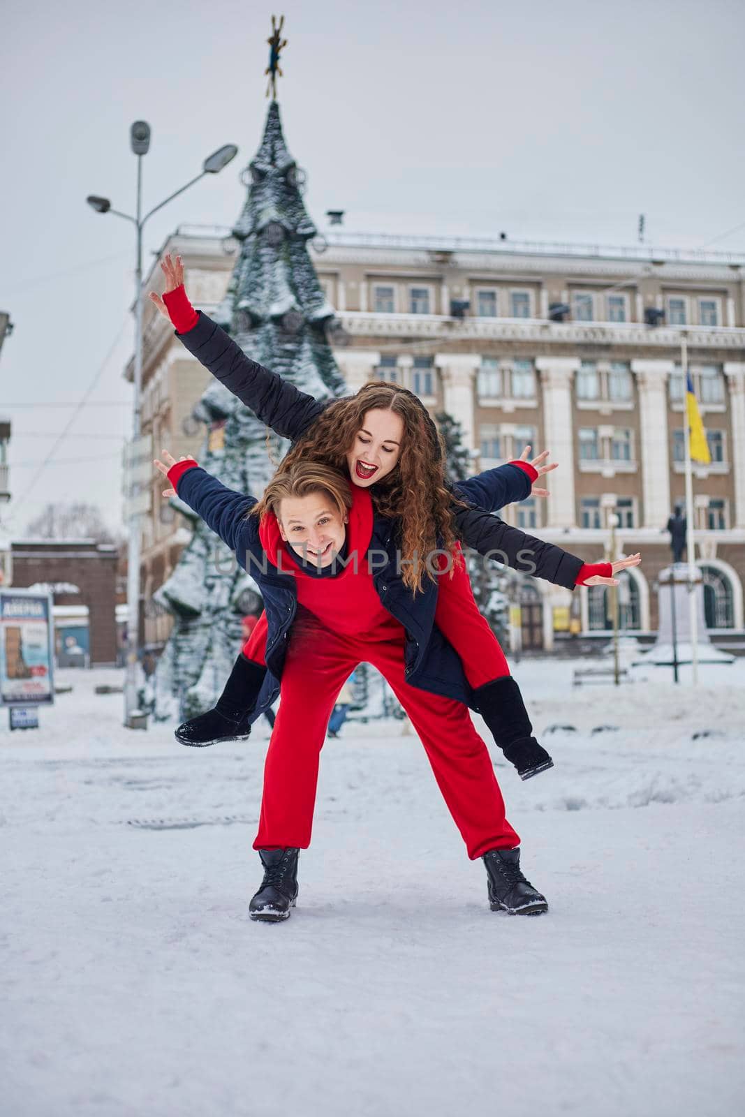
M 273 55 L 276 71 L 274 46 Z M 334 312 L 307 250 L 316 229 L 303 203 L 304 175 L 287 151 L 276 101 L 241 178 L 248 194 L 232 230 L 236 266 L 214 318 L 245 353 L 302 391 L 317 399 L 341 395 L 346 385 L 327 340 Z M 267 428 L 217 381 L 193 414 L 209 430 L 200 465 L 230 488 L 260 495 L 287 443 L 271 436 L 270 457 Z M 174 617 L 154 680 L 159 719 L 191 717 L 213 705 L 240 649 L 241 617 L 260 605 L 256 583 L 217 536 L 181 502 L 171 503 L 191 518 L 194 532 L 154 594 Z

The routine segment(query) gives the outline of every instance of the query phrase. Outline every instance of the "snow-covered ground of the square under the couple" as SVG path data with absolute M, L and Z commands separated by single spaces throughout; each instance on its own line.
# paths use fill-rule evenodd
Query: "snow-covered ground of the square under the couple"
M 534 919 L 489 911 L 401 723 L 327 743 L 298 907 L 267 926 L 265 724 L 204 751 L 125 731 L 93 693 L 115 671 L 59 672 L 38 732 L 1 712 L 3 1117 L 742 1113 L 745 660 L 696 691 L 572 690 L 574 666 L 516 669 L 556 767 L 494 754 Z

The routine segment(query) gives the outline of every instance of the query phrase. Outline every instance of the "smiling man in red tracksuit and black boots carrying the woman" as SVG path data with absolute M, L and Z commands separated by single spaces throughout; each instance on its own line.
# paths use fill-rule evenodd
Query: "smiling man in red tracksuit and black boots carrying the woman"
M 250 567 L 267 610 L 269 674 L 280 679 L 254 842 L 265 876 L 250 903 L 251 918 L 286 919 L 295 905 L 297 857 L 311 842 L 328 717 L 345 679 L 363 660 L 381 671 L 419 734 L 469 857 L 484 859 L 493 910 L 546 911 L 545 897 L 519 868 L 519 839 L 505 817 L 488 750 L 464 701 L 441 693 L 458 690 L 458 680 L 432 672 L 437 663 L 461 670 L 457 657 L 447 648 L 428 651 L 417 669 L 419 685 L 408 681 L 408 629 L 419 631 L 410 612 L 413 598 L 399 594 L 394 600 L 392 572 L 381 577 L 369 565 L 378 529 L 369 490 L 351 486 L 327 466 L 298 462 L 275 477 L 257 503 L 227 489 L 193 459 L 175 462 L 164 456 L 170 468 L 156 465 L 179 497 Z M 316 479 L 322 475 L 322 484 L 309 493 L 303 487 L 308 474 Z M 311 545 L 309 560 L 305 544 Z M 251 565 L 257 555 L 265 560 L 264 569 Z M 383 604 L 389 598 L 390 609 Z

